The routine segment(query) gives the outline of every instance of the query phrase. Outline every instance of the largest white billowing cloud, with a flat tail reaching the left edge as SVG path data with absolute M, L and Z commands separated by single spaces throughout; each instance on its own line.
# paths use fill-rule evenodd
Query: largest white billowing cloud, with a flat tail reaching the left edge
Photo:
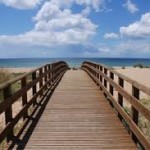
M 70 9 L 61 9 L 53 1 L 45 2 L 34 20 L 33 30 L 15 36 L 0 36 L 0 43 L 39 46 L 81 44 L 91 38 L 97 28 L 82 12 L 73 14 Z

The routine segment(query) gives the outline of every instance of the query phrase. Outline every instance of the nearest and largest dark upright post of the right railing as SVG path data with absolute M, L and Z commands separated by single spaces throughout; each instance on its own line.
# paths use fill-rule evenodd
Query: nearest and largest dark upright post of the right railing
M 140 92 L 139 89 L 132 86 L 132 95 L 139 100 L 140 98 Z M 134 121 L 135 124 L 138 125 L 138 118 L 139 118 L 139 112 L 132 106 L 132 120 Z M 134 133 L 132 133 L 132 139 L 135 143 L 138 142 L 136 136 L 134 135 Z

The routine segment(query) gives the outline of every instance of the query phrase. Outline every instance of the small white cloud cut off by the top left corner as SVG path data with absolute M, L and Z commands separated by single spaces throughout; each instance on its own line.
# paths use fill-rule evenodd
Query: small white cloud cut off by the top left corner
M 0 0 L 7 6 L 11 6 L 18 9 L 30 9 L 40 4 L 41 0 Z

